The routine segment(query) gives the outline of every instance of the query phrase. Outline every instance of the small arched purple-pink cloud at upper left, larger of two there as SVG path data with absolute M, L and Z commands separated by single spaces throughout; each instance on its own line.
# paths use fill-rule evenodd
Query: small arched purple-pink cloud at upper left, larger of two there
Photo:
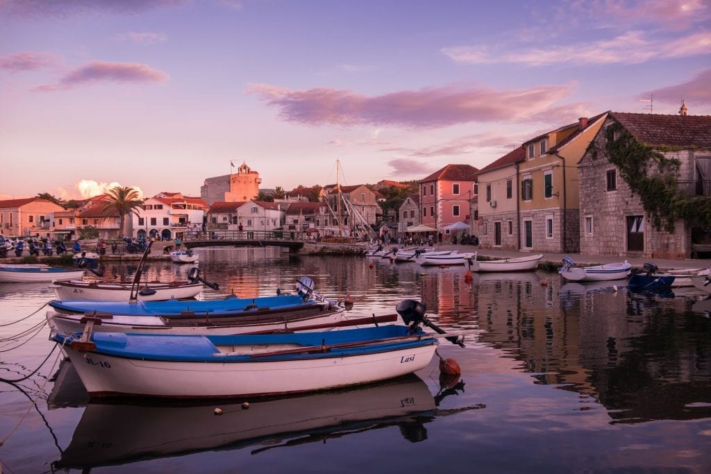
M 36 90 L 63 90 L 97 82 L 165 82 L 170 76 L 161 70 L 138 63 L 93 63 L 68 72 L 58 85 L 41 85 Z

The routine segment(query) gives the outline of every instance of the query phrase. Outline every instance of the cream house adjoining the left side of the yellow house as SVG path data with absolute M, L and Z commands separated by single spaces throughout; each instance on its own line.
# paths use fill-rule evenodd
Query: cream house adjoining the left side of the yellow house
M 524 159 L 525 150 L 518 146 L 476 175 L 481 190 L 476 224 L 482 249 L 519 249 L 518 166 Z

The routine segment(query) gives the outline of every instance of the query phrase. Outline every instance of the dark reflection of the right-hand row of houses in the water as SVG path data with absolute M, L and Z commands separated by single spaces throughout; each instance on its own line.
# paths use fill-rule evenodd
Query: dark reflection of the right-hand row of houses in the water
M 619 422 L 711 417 L 711 406 L 689 409 L 711 400 L 711 322 L 690 312 L 695 300 L 510 278 L 477 282 L 479 340 L 538 383 L 586 394 Z

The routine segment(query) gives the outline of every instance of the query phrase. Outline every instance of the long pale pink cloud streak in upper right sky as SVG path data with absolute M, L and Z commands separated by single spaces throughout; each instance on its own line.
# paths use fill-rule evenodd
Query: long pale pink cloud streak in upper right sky
M 560 63 L 574 65 L 644 63 L 652 59 L 685 58 L 711 53 L 711 32 L 690 33 L 670 40 L 659 35 L 648 38 L 642 31 L 630 31 L 615 38 L 550 48 L 501 53 L 485 46 L 443 48 L 442 53 L 458 63 L 515 63 L 540 66 Z

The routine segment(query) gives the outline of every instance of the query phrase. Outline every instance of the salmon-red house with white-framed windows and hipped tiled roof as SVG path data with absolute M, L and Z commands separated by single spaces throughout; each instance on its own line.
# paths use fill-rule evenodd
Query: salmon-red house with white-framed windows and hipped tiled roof
M 471 165 L 449 164 L 419 181 L 420 222 L 443 235 L 447 225 L 466 222 L 471 227 L 471 200 L 477 193 L 476 173 Z

